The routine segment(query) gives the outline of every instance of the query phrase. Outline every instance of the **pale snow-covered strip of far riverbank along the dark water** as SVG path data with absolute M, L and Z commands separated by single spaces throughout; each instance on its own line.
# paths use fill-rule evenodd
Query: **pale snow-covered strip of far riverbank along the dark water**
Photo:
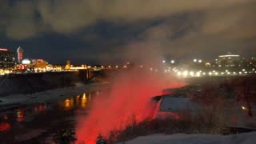
M 15 94 L 0 98 L 0 110 L 6 107 L 43 102 L 57 102 L 70 96 L 83 94 L 96 89 L 100 84 L 92 83 L 84 85 L 77 83 L 75 86 L 46 90 L 35 94 Z

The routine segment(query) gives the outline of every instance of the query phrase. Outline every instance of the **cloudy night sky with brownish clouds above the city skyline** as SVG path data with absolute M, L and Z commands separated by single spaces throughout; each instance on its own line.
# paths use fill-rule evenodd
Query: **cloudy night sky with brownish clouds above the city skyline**
M 0 47 L 53 64 L 256 56 L 256 0 L 1 0 Z

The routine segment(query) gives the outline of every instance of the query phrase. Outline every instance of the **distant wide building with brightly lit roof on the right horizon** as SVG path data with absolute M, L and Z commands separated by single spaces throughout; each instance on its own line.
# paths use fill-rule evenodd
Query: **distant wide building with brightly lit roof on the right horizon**
M 216 60 L 219 66 L 238 66 L 241 62 L 241 57 L 238 54 L 231 54 L 229 52 L 226 55 L 219 55 Z

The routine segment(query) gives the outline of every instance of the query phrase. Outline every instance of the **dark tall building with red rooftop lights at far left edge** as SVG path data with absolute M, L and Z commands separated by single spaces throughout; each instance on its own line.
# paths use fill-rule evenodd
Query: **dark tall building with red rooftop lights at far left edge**
M 0 69 L 13 69 L 14 65 L 14 53 L 8 49 L 0 48 Z

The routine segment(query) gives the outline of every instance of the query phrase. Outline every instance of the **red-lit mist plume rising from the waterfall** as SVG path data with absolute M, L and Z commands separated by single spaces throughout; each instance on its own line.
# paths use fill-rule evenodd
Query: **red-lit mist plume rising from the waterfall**
M 133 115 L 136 122 L 154 118 L 157 105 L 150 98 L 166 88 L 184 85 L 170 76 L 142 71 L 129 70 L 117 76 L 109 93 L 103 91 L 94 98 L 89 116 L 78 115 L 78 143 L 92 144 L 98 134 L 107 136 L 110 130 L 122 130 Z

